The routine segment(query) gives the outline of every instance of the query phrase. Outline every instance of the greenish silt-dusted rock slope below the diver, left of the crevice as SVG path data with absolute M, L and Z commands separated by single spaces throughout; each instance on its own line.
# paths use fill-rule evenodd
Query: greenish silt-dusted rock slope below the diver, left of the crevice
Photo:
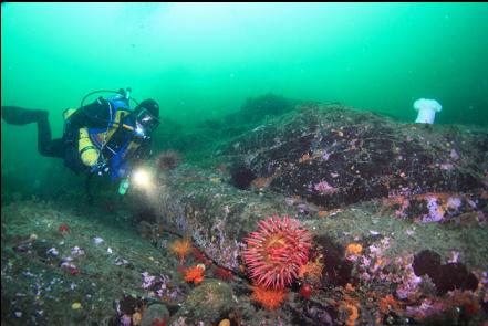
M 61 223 L 71 225 L 72 232 L 61 234 Z M 142 309 L 148 291 L 142 287 L 139 272 L 158 275 L 173 265 L 121 225 L 80 200 L 31 200 L 3 207 L 2 324 L 110 325 L 113 320 L 120 325 L 123 315 Z M 95 235 L 105 242 L 94 244 Z M 115 263 L 108 244 L 117 256 L 133 262 L 133 270 Z M 19 245 L 20 250 L 12 250 Z M 72 309 L 73 303 L 80 308 Z M 14 316 L 18 311 L 21 317 Z

